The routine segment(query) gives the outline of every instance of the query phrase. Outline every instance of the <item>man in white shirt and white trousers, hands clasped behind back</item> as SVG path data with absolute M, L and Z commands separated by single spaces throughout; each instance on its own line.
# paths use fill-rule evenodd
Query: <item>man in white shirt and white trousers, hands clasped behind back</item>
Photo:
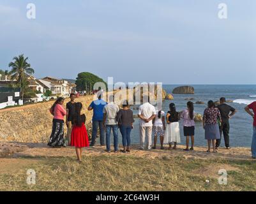
M 149 101 L 149 97 L 147 97 L 147 101 Z M 138 116 L 140 118 L 140 149 L 144 150 L 146 136 L 146 148 L 151 149 L 151 135 L 153 129 L 152 120 L 154 119 L 154 117 L 156 117 L 156 110 L 153 105 L 151 105 L 149 102 L 146 102 L 143 105 L 140 105 Z

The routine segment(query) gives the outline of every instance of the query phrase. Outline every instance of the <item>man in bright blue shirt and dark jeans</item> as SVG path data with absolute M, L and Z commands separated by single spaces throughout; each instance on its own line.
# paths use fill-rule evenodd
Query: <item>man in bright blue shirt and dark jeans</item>
M 102 95 L 98 96 L 98 99 L 91 102 L 88 110 L 93 110 L 93 135 L 91 136 L 90 146 L 94 146 L 96 142 L 96 135 L 98 127 L 100 126 L 100 145 L 105 146 L 105 131 L 103 127 L 103 109 L 107 105 L 107 102 L 102 99 Z

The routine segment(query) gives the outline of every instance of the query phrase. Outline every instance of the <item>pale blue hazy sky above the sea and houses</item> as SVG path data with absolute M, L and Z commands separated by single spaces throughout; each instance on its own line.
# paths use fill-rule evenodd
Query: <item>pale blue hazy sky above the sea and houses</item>
M 0 69 L 24 54 L 37 78 L 255 84 L 255 36 L 255 0 L 0 0 Z

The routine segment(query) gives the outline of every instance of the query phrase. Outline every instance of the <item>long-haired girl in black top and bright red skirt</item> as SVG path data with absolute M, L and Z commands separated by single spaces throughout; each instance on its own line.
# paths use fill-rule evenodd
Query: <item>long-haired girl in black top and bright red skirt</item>
M 82 161 L 82 147 L 89 147 L 89 140 L 86 131 L 86 115 L 81 115 L 82 103 L 76 103 L 75 115 L 73 116 L 73 129 L 71 133 L 71 145 L 75 147 L 77 160 Z

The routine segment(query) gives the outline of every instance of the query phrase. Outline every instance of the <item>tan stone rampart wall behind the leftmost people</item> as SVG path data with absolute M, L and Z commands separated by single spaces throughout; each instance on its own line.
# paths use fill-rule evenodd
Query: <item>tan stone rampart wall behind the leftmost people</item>
M 92 111 L 87 107 L 93 96 L 77 98 L 83 105 L 82 113 L 86 113 L 86 126 L 91 136 L 90 126 Z M 65 99 L 67 103 L 69 99 Z M 0 110 L 0 142 L 47 142 L 52 132 L 52 115 L 49 112 L 54 101 L 19 106 Z M 66 134 L 66 126 L 64 126 Z

